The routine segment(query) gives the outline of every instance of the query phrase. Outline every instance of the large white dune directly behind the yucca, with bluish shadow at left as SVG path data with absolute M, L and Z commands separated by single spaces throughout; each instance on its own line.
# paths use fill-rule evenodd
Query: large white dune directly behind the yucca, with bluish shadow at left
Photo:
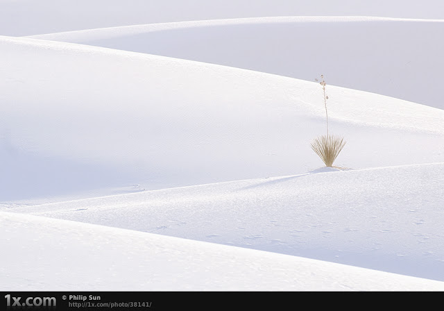
M 0 87 L 9 172 L 3 201 L 303 174 L 322 165 L 309 148 L 325 133 L 318 83 L 26 38 L 2 37 L 1 55 L 8 59 Z M 328 94 L 330 131 L 348 141 L 338 165 L 443 161 L 443 110 L 341 87 Z

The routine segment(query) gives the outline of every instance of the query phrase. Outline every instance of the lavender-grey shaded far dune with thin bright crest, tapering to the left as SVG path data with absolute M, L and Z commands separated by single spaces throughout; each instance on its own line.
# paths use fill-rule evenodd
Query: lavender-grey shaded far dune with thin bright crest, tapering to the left
M 443 33 L 444 19 L 327 16 L 148 24 L 33 37 L 307 81 L 325 73 L 332 85 L 444 109 L 438 82 L 444 71 Z

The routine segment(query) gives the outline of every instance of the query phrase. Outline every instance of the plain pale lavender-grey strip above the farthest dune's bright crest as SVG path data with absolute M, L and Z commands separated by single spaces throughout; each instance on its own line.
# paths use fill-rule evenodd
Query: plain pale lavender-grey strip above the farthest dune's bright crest
M 0 35 L 239 17 L 365 15 L 444 19 L 441 0 L 0 0 Z

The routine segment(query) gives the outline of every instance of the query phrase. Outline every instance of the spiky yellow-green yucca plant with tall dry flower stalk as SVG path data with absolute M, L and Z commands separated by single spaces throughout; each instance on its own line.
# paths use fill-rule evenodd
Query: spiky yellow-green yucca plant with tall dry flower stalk
M 321 135 L 316 137 L 313 141 L 311 141 L 311 149 L 319 155 L 319 158 L 325 163 L 326 167 L 332 167 L 334 160 L 336 160 L 337 156 L 345 146 L 345 140 L 343 137 L 332 136 L 328 131 L 328 111 L 327 111 L 327 99 L 328 96 L 325 94 L 325 83 L 324 76 L 321 75 L 321 85 L 323 88 L 324 94 L 324 106 L 325 106 L 325 119 L 327 121 L 327 135 Z M 318 81 L 318 79 L 316 79 Z

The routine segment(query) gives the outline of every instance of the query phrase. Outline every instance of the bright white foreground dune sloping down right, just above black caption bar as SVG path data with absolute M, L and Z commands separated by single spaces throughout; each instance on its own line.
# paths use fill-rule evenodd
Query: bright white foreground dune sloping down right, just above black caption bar
M 0 212 L 0 224 L 5 291 L 444 290 L 433 280 L 73 221 Z

